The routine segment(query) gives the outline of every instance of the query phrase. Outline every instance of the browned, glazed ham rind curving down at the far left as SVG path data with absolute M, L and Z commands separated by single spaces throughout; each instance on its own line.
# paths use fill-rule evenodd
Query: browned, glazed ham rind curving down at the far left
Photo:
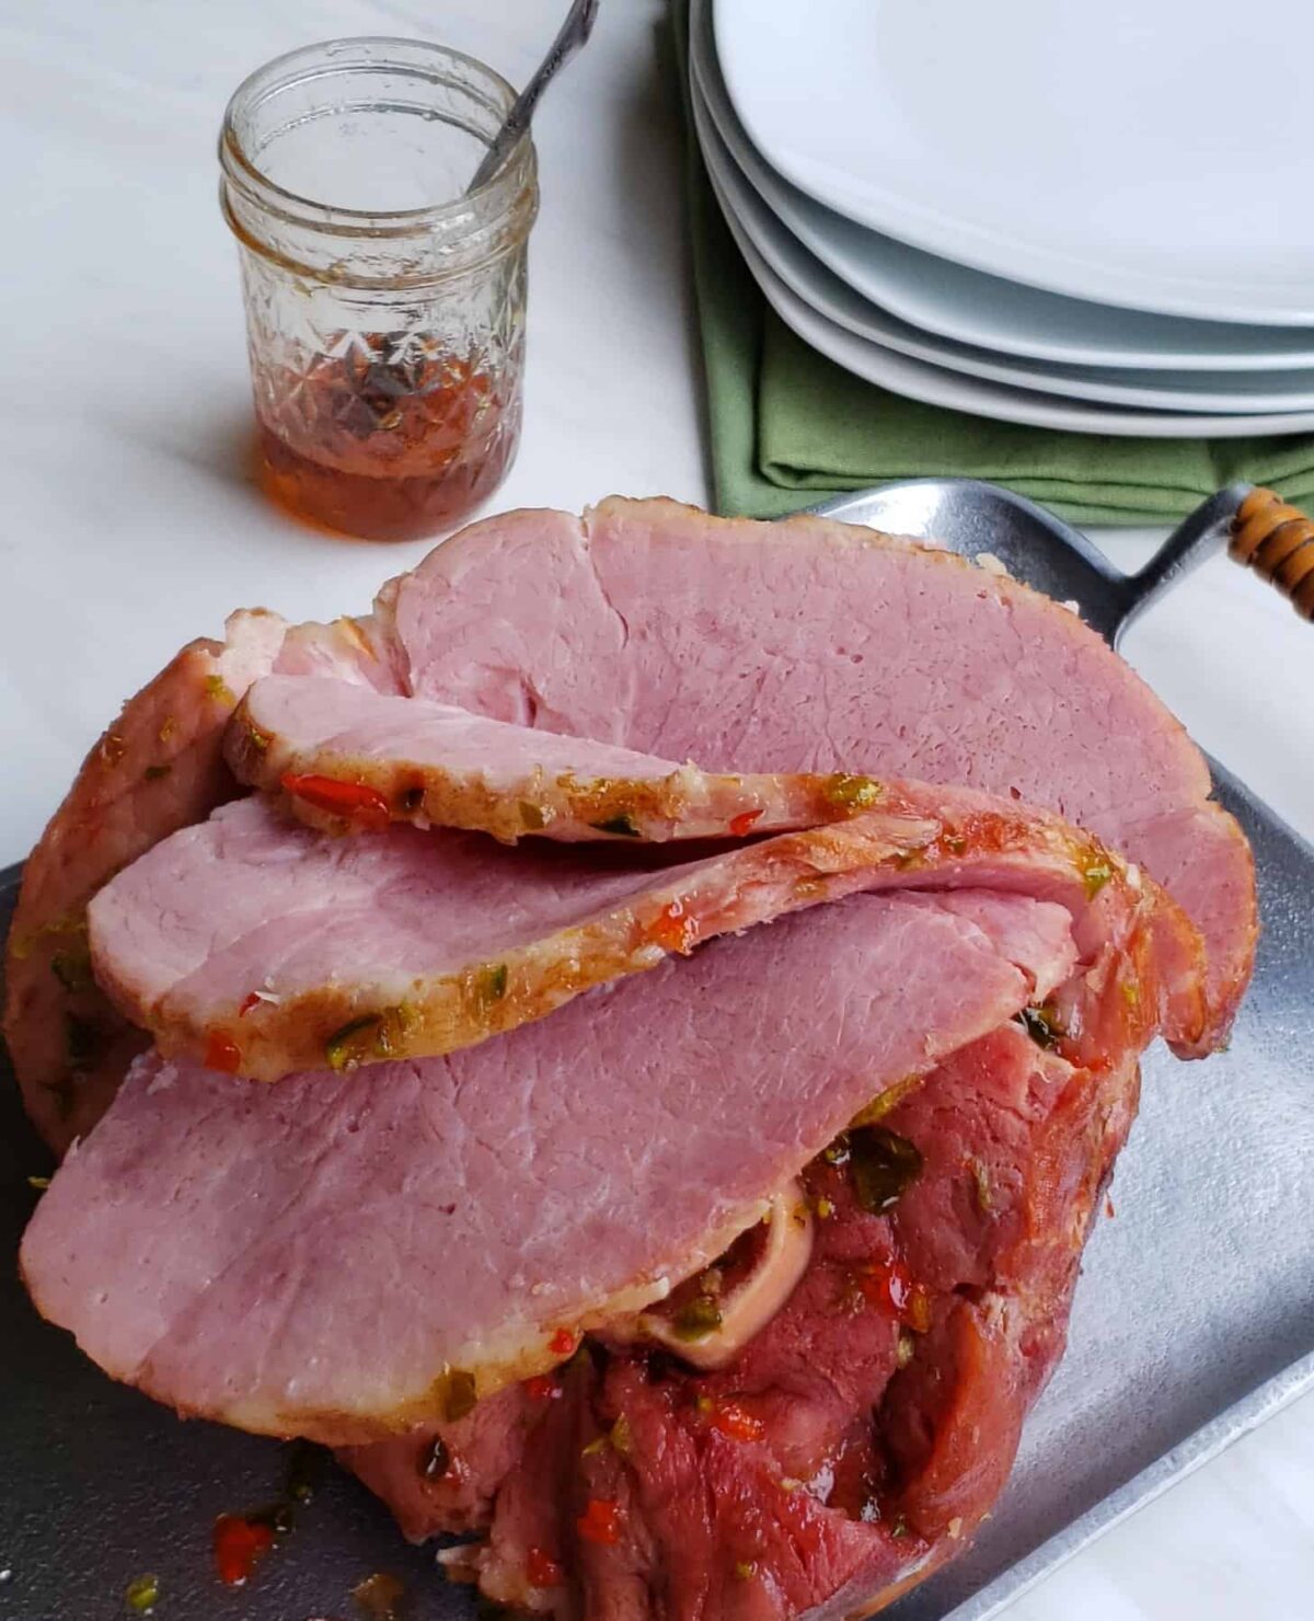
M 5 1039 L 28 1114 L 57 1151 L 89 1130 L 146 1046 L 96 989 L 87 901 L 120 867 L 238 791 L 222 739 L 274 668 L 287 626 L 235 613 L 225 642 L 191 642 L 125 707 L 28 858 L 5 961 Z

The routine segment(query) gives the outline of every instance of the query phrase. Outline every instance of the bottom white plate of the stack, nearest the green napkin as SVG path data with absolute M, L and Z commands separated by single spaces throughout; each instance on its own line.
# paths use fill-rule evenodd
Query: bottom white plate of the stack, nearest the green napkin
M 786 282 L 776 276 L 749 240 L 726 198 L 710 173 L 713 191 L 726 214 L 726 224 L 739 251 L 766 302 L 799 337 L 828 360 L 893 394 L 946 405 L 972 417 L 1016 421 L 1032 428 L 1063 428 L 1068 433 L 1103 433 L 1134 439 L 1248 439 L 1252 434 L 1314 431 L 1314 412 L 1291 412 L 1265 417 L 1207 417 L 1158 410 L 1116 410 L 1111 405 L 1081 405 L 1052 394 L 1013 389 L 1003 383 L 985 383 L 943 366 L 927 365 L 870 339 L 859 337 L 826 316 L 818 314 Z

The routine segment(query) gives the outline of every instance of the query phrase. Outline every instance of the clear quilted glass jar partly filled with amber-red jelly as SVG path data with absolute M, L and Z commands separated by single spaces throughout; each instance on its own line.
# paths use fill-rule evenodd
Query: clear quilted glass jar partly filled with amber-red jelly
M 514 92 L 408 39 L 339 39 L 240 86 L 219 143 L 241 245 L 261 475 L 329 528 L 410 540 L 520 439 L 533 143 L 463 190 Z

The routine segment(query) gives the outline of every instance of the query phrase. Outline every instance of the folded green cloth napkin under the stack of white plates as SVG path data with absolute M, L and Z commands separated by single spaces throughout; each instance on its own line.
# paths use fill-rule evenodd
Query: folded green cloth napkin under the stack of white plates
M 689 0 L 672 0 L 689 96 Z M 1314 434 L 1121 439 L 967 417 L 808 349 L 766 305 L 689 131 L 689 214 L 719 512 L 778 517 L 894 478 L 987 478 L 1076 524 L 1167 524 L 1233 480 L 1314 498 Z

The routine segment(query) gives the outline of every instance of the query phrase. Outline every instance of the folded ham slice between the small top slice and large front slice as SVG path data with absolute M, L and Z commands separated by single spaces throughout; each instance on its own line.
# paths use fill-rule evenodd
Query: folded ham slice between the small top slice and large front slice
M 1152 919 L 1165 1024 L 1197 1033 L 1194 930 L 1118 858 L 982 794 L 864 786 L 880 809 L 666 869 L 629 849 L 512 851 L 408 827 L 331 840 L 241 801 L 96 896 L 92 963 L 162 1052 L 272 1081 L 452 1052 L 855 890 L 1005 888 L 1064 905 L 1082 952 Z

